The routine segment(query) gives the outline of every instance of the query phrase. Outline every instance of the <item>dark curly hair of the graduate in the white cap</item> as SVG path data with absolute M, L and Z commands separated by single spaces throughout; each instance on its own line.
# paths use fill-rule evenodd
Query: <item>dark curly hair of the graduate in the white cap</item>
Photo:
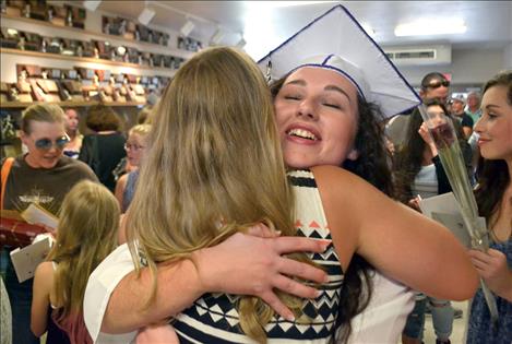
M 271 84 L 271 93 L 275 98 L 286 78 Z M 346 159 L 341 167 L 358 175 L 389 197 L 394 197 L 390 167 L 389 151 L 385 147 L 384 131 L 381 126 L 383 115 L 380 108 L 357 96 L 358 123 L 355 149 L 359 153 L 356 161 Z M 374 274 L 362 257 L 354 254 L 344 274 L 344 283 L 340 297 L 337 325 L 341 325 L 341 340 L 346 342 L 352 333 L 350 321 L 368 306 L 373 290 L 371 277 Z

